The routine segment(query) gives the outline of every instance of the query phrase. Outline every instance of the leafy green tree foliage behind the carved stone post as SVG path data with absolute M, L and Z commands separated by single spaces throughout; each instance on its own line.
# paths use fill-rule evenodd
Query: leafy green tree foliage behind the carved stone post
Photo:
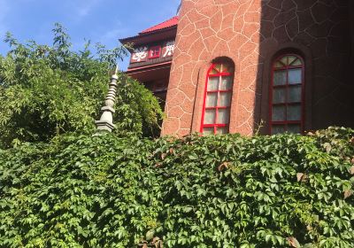
M 12 50 L 0 57 L 0 147 L 15 142 L 49 141 L 65 132 L 94 130 L 115 61 L 124 47 L 106 50 L 88 42 L 73 51 L 65 29 L 53 29 L 53 45 L 19 43 L 7 34 Z M 115 122 L 118 131 L 145 136 L 158 129 L 158 100 L 140 83 L 119 74 Z

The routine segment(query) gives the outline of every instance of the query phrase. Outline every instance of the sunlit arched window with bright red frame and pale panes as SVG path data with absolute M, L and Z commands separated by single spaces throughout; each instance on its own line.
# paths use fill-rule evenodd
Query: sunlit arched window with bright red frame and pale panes
M 231 63 L 214 63 L 208 70 L 204 91 L 201 133 L 227 134 L 234 82 Z

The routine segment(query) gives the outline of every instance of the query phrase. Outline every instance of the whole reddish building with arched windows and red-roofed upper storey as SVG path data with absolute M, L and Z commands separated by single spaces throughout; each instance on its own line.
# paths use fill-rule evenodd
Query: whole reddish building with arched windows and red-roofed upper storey
M 163 135 L 353 128 L 353 2 L 183 0 L 121 40 L 127 74 L 165 100 Z

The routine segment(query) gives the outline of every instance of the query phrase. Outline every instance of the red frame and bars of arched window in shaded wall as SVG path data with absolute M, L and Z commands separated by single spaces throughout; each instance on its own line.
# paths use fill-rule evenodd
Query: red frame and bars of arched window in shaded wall
M 288 57 L 287 65 L 284 65 L 281 62 L 282 58 Z M 290 64 L 289 64 L 289 57 L 296 57 Z M 301 65 L 292 66 L 296 60 L 299 59 L 301 61 Z M 283 65 L 282 67 L 275 67 L 277 62 L 281 62 Z M 301 69 L 301 82 L 299 83 L 291 83 L 289 84 L 289 70 L 291 69 Z M 284 85 L 274 85 L 274 73 L 277 71 L 286 71 L 286 83 Z M 285 131 L 288 131 L 288 126 L 291 124 L 297 124 L 300 126 L 300 133 L 304 133 L 304 59 L 297 55 L 297 54 L 282 54 L 280 57 L 274 59 L 272 65 L 272 79 L 271 79 L 270 89 L 269 89 L 269 134 L 273 135 L 273 126 L 283 126 Z M 289 88 L 294 86 L 301 85 L 301 100 L 300 102 L 289 102 Z M 277 103 L 273 104 L 273 89 L 285 89 L 285 101 L 284 103 Z M 273 106 L 274 105 L 284 105 L 285 106 L 285 120 L 273 120 Z M 300 113 L 300 120 L 288 120 L 288 106 L 289 105 L 301 105 L 301 113 Z

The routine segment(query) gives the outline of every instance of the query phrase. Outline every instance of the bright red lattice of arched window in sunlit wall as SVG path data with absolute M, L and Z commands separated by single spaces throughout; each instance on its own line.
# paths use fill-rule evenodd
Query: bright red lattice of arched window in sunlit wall
M 219 79 L 217 89 L 208 89 L 209 85 L 211 84 L 211 79 L 215 78 Z M 228 88 L 227 79 L 230 81 L 230 86 Z M 212 129 L 212 134 L 214 135 L 218 134 L 218 131 L 220 131 L 222 134 L 228 133 L 233 81 L 233 68 L 231 66 L 228 66 L 226 64 L 212 64 L 211 68 L 208 71 L 208 76 L 205 83 L 202 125 L 200 129 L 201 133 L 206 134 L 206 129 Z M 225 87 L 225 89 L 220 89 L 221 87 Z M 212 96 L 213 94 L 216 94 L 216 105 L 207 106 L 208 96 Z M 220 102 L 221 94 L 224 94 L 224 96 L 229 97 L 227 105 L 222 105 L 222 103 Z M 208 110 L 215 111 L 215 116 L 213 118 L 212 123 L 205 123 L 205 112 L 207 112 Z M 224 123 L 219 123 L 220 110 L 226 110 L 224 114 L 227 115 L 227 120 Z

